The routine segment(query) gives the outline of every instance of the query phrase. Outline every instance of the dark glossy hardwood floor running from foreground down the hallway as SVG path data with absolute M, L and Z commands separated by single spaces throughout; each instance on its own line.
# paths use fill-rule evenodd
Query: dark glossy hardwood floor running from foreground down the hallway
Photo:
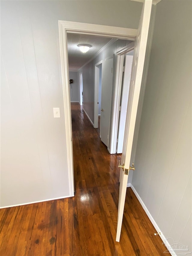
M 121 155 L 109 154 L 79 104 L 71 109 L 75 196 L 0 209 L 0 255 L 164 255 L 131 188 L 115 241 Z

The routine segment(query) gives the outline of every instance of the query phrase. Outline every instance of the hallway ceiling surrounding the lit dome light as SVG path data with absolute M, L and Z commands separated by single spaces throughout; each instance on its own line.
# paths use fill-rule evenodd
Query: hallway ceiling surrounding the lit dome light
M 104 36 L 67 33 L 69 71 L 77 71 L 111 40 Z M 90 44 L 91 48 L 82 53 L 78 44 Z

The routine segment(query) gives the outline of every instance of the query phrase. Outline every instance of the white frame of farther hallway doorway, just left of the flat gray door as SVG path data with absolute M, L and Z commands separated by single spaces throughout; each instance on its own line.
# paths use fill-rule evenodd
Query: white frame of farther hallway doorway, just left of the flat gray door
M 95 64 L 95 92 L 94 92 L 94 128 L 98 128 L 98 99 L 99 99 L 99 66 L 102 65 L 101 86 L 103 79 L 103 60 Z

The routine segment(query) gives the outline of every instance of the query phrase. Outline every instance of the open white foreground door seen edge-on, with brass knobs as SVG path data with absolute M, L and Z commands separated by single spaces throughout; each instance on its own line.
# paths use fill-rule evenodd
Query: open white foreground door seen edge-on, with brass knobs
M 135 120 L 137 115 L 137 106 L 139 101 L 141 80 L 143 74 L 143 65 L 145 60 L 147 36 L 149 31 L 149 21 L 151 15 L 152 0 L 145 0 L 141 13 L 137 37 L 135 41 L 135 51 L 131 72 L 131 83 L 129 89 L 127 117 L 125 123 L 125 135 L 123 142 L 122 164 L 119 186 L 119 206 L 117 219 L 116 241 L 119 242 L 123 211 L 125 206 L 125 196 L 127 190 L 128 172 L 130 170 L 131 149 L 134 136 Z

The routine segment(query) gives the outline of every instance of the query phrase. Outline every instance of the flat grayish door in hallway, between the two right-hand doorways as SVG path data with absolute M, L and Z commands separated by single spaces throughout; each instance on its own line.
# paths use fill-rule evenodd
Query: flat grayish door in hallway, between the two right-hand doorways
M 113 57 L 103 62 L 102 89 L 101 89 L 101 141 L 108 146 L 109 121 L 111 108 L 111 92 L 113 81 Z

